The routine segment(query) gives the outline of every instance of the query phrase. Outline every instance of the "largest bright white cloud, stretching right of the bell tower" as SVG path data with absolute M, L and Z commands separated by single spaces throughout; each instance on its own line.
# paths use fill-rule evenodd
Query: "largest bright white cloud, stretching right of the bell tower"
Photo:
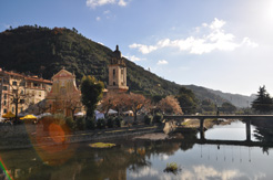
M 203 23 L 202 27 L 195 28 L 198 33 L 201 29 L 205 29 L 206 33 L 201 36 L 189 36 L 186 39 L 170 40 L 163 39 L 158 41 L 154 45 L 136 44 L 129 45 L 130 49 L 136 49 L 142 54 L 151 53 L 163 47 L 178 47 L 180 51 L 189 52 L 191 54 L 204 54 L 212 51 L 234 51 L 235 49 L 246 45 L 251 47 L 259 46 L 257 43 L 252 42 L 249 38 L 244 38 L 241 42 L 235 42 L 235 35 L 226 33 L 223 29 L 225 21 L 214 19 L 210 24 Z M 208 33 L 209 32 L 209 33 Z

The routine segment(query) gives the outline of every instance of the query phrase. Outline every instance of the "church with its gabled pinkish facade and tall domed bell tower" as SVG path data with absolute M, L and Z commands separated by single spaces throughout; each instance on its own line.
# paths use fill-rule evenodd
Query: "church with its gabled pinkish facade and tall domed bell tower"
M 108 93 L 125 93 L 127 86 L 127 65 L 117 45 L 113 52 L 109 68 Z M 52 88 L 47 96 L 47 105 L 50 106 L 50 113 L 61 113 L 64 116 L 71 116 L 83 110 L 81 104 L 81 91 L 77 87 L 75 75 L 62 68 L 52 76 Z

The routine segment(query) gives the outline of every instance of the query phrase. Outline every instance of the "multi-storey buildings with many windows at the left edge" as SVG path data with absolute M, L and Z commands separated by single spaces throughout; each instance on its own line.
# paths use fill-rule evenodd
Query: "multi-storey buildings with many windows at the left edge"
M 51 91 L 52 82 L 0 68 L 0 114 L 28 112 L 29 106 L 42 102 Z M 18 103 L 16 103 L 18 100 Z M 18 106 L 18 108 L 17 108 Z

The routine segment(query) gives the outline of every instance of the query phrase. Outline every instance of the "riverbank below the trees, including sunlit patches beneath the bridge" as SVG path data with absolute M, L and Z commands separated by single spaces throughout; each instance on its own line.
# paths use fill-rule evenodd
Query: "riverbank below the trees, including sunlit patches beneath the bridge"
M 204 127 L 209 129 L 212 128 L 213 125 L 228 125 L 233 120 L 231 119 L 206 119 L 204 121 Z M 199 126 L 200 121 L 198 119 L 185 119 L 180 127 L 196 129 Z M 0 128 L 3 134 L 0 137 L 0 150 L 58 146 L 84 141 L 107 141 L 118 138 L 132 138 L 133 140 L 164 140 L 170 138 L 168 134 L 164 134 L 165 130 L 163 131 L 163 129 L 170 128 L 168 124 L 165 124 L 165 127 L 164 125 L 138 125 L 132 127 L 84 130 L 69 134 L 63 131 L 43 131 L 43 128 L 37 125 L 17 125 Z

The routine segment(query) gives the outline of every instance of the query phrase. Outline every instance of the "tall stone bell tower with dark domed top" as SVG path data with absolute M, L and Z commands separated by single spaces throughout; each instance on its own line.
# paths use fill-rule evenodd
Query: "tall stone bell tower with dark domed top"
M 108 91 L 127 92 L 129 89 L 127 86 L 127 65 L 122 59 L 121 52 L 119 51 L 119 45 L 117 45 L 115 51 L 113 52 L 113 57 L 108 68 Z

